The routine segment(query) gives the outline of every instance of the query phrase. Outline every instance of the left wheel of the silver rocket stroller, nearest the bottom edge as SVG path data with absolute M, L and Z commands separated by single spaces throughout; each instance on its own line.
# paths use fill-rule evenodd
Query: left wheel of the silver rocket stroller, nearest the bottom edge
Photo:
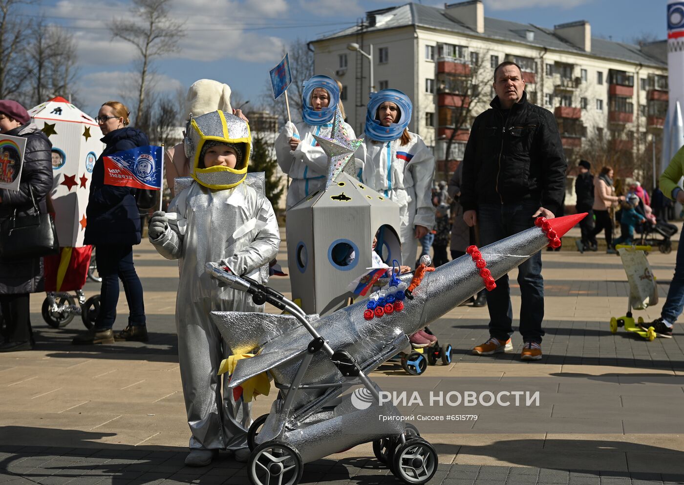
M 252 485 L 297 485 L 304 463 L 299 452 L 283 441 L 267 441 L 254 448 L 248 463 Z

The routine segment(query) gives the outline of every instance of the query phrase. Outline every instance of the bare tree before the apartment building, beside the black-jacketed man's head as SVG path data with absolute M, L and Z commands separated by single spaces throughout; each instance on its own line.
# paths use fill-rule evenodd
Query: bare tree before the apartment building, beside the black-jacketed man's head
M 450 164 L 456 161 L 455 154 L 452 153 L 454 142 L 459 136 L 467 137 L 464 127 L 470 126 L 475 116 L 482 112 L 483 109 L 477 109 L 477 105 L 489 99 L 491 76 L 486 68 L 488 57 L 487 52 L 478 52 L 476 56 L 471 55 L 470 64 L 456 62 L 456 66 L 461 66 L 457 72 L 438 75 L 437 92 L 451 96 L 453 104 L 450 107 L 440 107 L 438 113 L 438 126 L 446 128 L 449 133 L 444 150 L 445 180 L 451 178 Z

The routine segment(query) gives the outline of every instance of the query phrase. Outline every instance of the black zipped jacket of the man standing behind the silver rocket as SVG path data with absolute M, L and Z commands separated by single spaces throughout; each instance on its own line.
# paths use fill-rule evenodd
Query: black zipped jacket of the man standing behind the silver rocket
M 466 145 L 463 210 L 531 199 L 559 213 L 568 164 L 553 114 L 529 103 L 527 93 L 511 109 L 501 109 L 498 96 L 490 106 L 475 118 Z

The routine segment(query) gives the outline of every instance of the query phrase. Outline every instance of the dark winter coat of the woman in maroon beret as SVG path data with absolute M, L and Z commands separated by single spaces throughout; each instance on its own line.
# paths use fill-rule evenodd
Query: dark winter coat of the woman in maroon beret
M 1 189 L 0 222 L 14 214 L 32 215 L 34 203 L 31 192 L 41 213 L 47 213 L 45 197 L 52 189 L 52 144 L 48 137 L 33 123 L 23 124 L 5 135 L 26 138 L 26 151 L 21 169 L 19 190 Z M 0 294 L 38 293 L 43 291 L 42 258 L 4 261 L 0 259 Z

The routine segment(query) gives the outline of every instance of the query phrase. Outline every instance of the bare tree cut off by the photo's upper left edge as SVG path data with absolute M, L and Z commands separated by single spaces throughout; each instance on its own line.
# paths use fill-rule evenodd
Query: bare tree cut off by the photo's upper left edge
M 31 3 L 34 0 L 0 0 L 0 99 L 20 96 L 27 77 L 23 48 L 30 23 L 19 20 L 16 10 Z

